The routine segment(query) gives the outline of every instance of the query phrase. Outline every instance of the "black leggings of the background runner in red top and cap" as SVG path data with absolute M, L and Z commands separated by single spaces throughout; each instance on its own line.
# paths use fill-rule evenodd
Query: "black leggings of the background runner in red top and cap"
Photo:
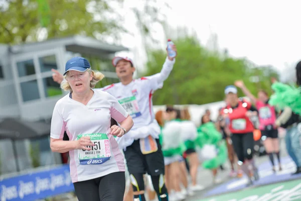
M 244 162 L 245 159 L 252 159 L 254 154 L 253 133 L 232 134 L 232 145 L 238 160 Z

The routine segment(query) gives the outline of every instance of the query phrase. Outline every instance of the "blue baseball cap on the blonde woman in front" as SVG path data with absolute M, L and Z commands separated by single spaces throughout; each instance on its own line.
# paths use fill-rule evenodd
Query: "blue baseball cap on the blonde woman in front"
M 69 61 L 66 62 L 64 75 L 69 70 L 85 72 L 89 68 L 91 68 L 91 65 L 87 59 L 85 59 L 83 57 L 73 57 L 72 59 L 70 59 Z

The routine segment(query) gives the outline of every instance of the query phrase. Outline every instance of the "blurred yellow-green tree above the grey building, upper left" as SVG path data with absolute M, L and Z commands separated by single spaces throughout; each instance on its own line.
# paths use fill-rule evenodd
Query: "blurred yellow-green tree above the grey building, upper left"
M 125 33 L 117 6 L 125 0 L 7 0 L 0 5 L 0 43 L 18 44 L 70 35 L 119 37 Z M 156 4 L 144 0 L 144 10 L 133 10 L 147 33 L 157 19 Z M 156 0 L 152 0 L 156 2 Z M 117 6 L 116 6 L 117 5 Z M 143 13 L 144 15 L 141 15 Z M 142 31 L 142 30 L 141 30 Z

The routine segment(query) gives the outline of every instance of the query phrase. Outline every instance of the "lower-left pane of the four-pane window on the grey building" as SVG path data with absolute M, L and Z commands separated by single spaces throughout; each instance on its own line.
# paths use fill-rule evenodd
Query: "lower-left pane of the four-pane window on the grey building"
M 21 86 L 23 102 L 40 98 L 38 82 L 36 79 L 31 81 L 21 82 L 20 86 Z

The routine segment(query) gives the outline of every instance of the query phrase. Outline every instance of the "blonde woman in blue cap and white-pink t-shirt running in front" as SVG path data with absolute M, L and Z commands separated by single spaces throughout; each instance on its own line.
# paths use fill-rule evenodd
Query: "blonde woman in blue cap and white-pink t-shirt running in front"
M 124 158 L 113 136 L 133 126 L 132 118 L 107 92 L 94 91 L 104 75 L 82 57 L 67 61 L 61 84 L 69 93 L 58 100 L 51 120 L 52 151 L 70 154 L 70 174 L 79 201 L 122 200 Z M 119 126 L 110 127 L 110 119 Z M 64 131 L 69 141 L 63 141 Z

